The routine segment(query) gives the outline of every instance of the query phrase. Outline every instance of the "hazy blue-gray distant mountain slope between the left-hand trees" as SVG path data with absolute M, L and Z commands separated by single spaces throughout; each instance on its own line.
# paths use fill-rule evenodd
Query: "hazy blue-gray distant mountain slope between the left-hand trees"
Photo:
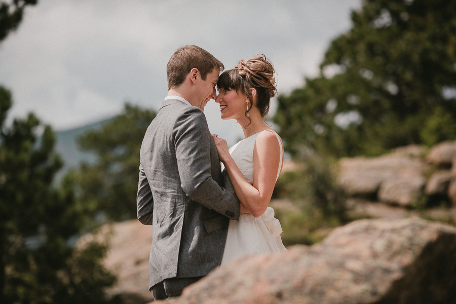
M 68 169 L 77 168 L 83 161 L 87 163 L 94 163 L 96 161 L 95 154 L 79 149 L 78 138 L 90 130 L 101 128 L 101 126 L 109 120 L 111 120 L 111 118 L 77 128 L 55 131 L 55 150 L 60 154 L 64 162 L 63 168 L 58 172 L 56 179 L 60 179 Z

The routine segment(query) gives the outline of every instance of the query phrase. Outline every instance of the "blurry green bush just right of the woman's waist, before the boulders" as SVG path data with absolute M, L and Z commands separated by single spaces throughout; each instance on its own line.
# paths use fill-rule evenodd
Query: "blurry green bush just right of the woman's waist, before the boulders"
M 348 221 L 346 196 L 336 184 L 329 162 L 308 153 L 304 163 L 304 169 L 284 172 L 274 188 L 275 198 L 287 197 L 299 210 L 276 211 L 287 246 L 318 242 L 329 228 Z

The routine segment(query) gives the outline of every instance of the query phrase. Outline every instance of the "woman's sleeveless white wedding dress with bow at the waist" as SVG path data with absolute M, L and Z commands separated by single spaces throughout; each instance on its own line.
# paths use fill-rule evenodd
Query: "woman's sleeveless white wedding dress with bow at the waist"
M 271 130 L 265 131 L 274 133 L 279 141 L 280 164 L 277 172 L 278 178 L 282 167 L 282 143 L 276 132 Z M 260 133 L 241 140 L 230 149 L 233 160 L 250 183 L 253 182 L 253 147 L 255 146 L 256 137 Z M 224 166 L 222 164 L 223 169 Z M 227 178 L 226 170 L 223 173 L 225 178 Z M 279 220 L 274 217 L 273 208 L 268 207 L 259 217 L 254 217 L 250 213 L 241 213 L 239 221 L 230 220 L 221 264 L 229 263 L 246 254 L 280 253 L 287 251 L 285 246 L 283 246 L 280 237 L 281 233 L 282 227 Z

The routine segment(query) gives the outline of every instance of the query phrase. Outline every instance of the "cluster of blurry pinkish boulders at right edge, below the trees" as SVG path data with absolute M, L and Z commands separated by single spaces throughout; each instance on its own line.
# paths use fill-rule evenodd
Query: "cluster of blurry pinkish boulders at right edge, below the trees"
M 448 197 L 456 206 L 456 141 L 424 147 L 411 145 L 377 158 L 339 161 L 338 183 L 349 196 L 374 197 L 403 207 L 423 195 Z

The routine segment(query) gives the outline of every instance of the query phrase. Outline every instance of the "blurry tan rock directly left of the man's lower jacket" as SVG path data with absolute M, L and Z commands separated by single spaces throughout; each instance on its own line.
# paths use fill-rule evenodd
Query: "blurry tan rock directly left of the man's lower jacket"
M 78 246 L 92 239 L 108 240 L 103 265 L 117 276 L 116 285 L 106 290 L 108 296 L 116 296 L 125 304 L 141 304 L 154 299 L 148 290 L 152 226 L 143 225 L 137 219 L 106 224 L 95 236 L 82 238 Z

